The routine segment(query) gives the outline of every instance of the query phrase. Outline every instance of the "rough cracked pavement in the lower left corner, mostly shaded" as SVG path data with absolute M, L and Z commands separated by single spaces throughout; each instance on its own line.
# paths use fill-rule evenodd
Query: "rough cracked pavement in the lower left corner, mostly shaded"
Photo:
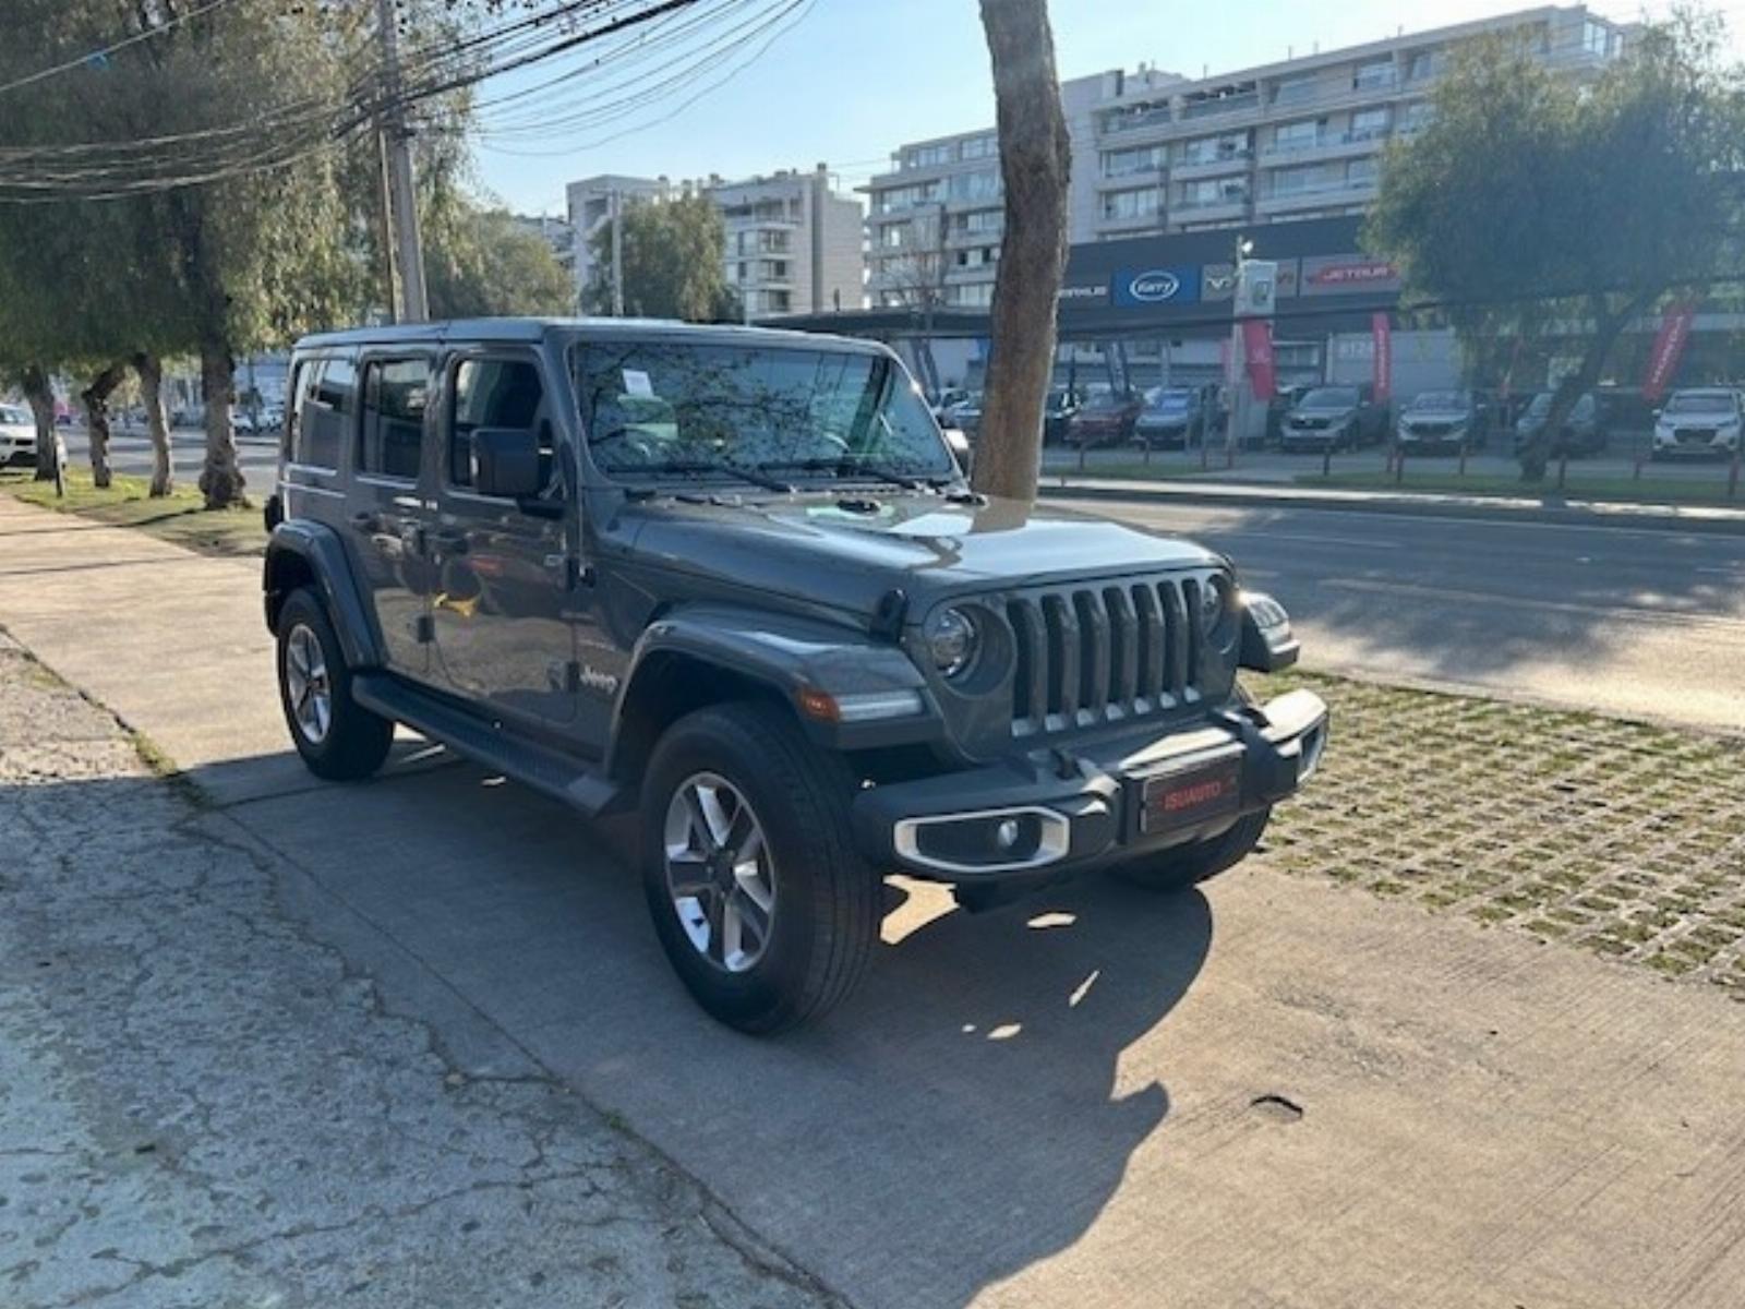
M 5 637 L 0 833 L 0 1304 L 827 1302 L 515 1049 L 457 1068 Z

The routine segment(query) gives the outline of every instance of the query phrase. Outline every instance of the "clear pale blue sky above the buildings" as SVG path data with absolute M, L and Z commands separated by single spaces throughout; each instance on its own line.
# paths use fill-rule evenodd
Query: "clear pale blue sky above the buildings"
M 1218 73 L 1424 28 L 1506 14 L 1529 0 L 1052 0 L 1063 77 L 1152 63 Z M 1590 5 L 1612 17 L 1628 0 Z M 1651 0 L 1653 12 L 1666 5 Z M 1731 7 L 1731 5 L 1729 5 Z M 515 82 L 492 82 L 494 94 Z M 670 112 L 654 106 L 642 120 Z M 813 0 L 756 65 L 667 122 L 614 141 L 543 141 L 539 157 L 482 145 L 482 185 L 525 213 L 562 213 L 564 183 L 592 173 L 743 176 L 824 161 L 855 187 L 902 141 L 993 124 L 975 0 Z

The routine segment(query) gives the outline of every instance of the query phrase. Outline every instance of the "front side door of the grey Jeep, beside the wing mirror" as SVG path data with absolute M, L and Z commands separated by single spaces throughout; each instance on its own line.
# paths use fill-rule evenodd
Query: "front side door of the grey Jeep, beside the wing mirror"
M 532 351 L 480 351 L 447 361 L 438 424 L 441 489 L 429 532 L 438 679 L 468 700 L 534 724 L 576 716 L 567 613 L 576 510 L 565 503 L 551 405 Z M 480 428 L 539 433 L 539 496 L 518 503 L 473 490 L 471 436 Z

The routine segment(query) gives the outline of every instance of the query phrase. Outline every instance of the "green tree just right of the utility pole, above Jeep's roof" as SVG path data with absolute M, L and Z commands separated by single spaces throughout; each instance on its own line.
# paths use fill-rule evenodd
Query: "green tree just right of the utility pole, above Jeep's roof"
M 576 290 L 551 246 L 506 209 L 462 204 L 431 222 L 426 237 L 431 318 L 576 312 Z

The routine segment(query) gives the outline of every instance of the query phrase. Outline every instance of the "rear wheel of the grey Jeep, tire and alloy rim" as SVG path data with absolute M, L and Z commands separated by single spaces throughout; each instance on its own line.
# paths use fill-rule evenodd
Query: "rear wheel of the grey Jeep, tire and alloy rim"
M 279 703 L 304 764 L 330 782 L 368 777 L 394 744 L 394 724 L 351 698 L 346 653 L 307 588 L 279 609 Z

